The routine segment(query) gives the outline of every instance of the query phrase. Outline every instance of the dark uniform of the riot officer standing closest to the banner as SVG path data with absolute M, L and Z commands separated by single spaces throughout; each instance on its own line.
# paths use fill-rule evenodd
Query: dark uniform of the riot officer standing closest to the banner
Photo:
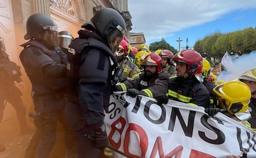
M 79 38 L 69 45 L 67 64 L 66 117 L 77 133 L 78 157 L 97 157 L 93 148 L 95 129 L 103 125 L 104 107 L 109 105 L 112 67 L 117 60 L 100 36 L 79 31 Z M 111 65 L 111 60 L 113 65 Z

